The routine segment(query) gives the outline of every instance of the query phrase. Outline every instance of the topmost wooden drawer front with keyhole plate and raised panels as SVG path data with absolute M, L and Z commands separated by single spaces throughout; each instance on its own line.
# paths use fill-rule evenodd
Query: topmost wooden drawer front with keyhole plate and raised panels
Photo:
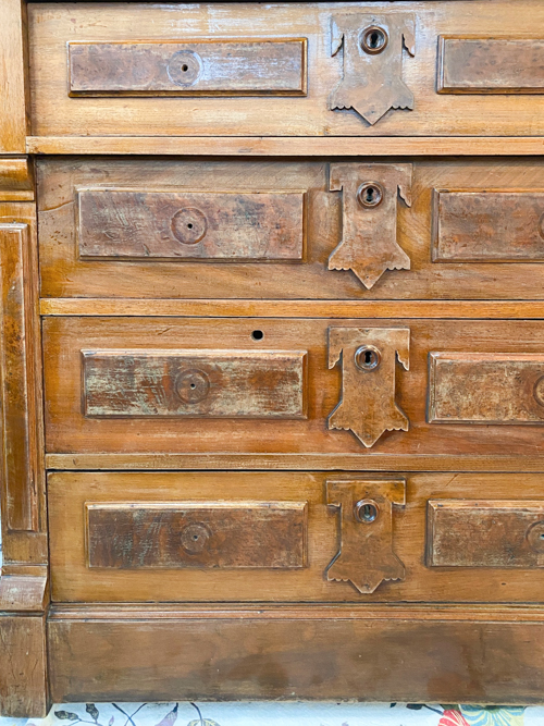
M 539 0 L 30 3 L 33 132 L 539 135 L 543 26 Z

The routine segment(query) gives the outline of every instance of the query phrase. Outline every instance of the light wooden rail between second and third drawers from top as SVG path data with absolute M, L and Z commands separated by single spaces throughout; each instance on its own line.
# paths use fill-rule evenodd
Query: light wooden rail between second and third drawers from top
M 41 298 L 42 316 L 75 317 L 218 317 L 218 318 L 499 318 L 503 320 L 540 320 L 544 302 L 527 300 L 175 300 L 108 299 L 51 297 Z

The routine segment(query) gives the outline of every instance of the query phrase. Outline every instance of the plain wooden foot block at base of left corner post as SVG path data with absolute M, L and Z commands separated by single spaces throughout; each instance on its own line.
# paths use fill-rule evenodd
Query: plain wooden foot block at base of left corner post
M 0 714 L 45 718 L 49 710 L 45 615 L 0 613 Z

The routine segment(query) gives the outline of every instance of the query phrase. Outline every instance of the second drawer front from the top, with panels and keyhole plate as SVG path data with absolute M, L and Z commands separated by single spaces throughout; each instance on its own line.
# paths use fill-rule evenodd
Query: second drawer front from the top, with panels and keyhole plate
M 542 299 L 539 159 L 38 162 L 45 297 Z

